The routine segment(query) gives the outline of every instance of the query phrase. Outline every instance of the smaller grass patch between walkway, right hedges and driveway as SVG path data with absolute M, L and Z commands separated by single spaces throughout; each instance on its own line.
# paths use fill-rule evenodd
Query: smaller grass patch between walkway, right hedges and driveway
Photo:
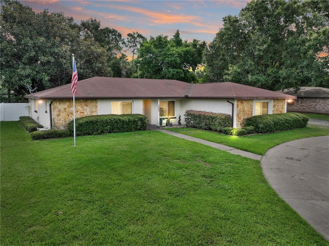
M 191 137 L 246 150 L 247 152 L 258 155 L 264 155 L 265 152 L 271 147 L 291 140 L 329 135 L 329 127 L 321 127 L 315 125 L 295 130 L 280 131 L 278 133 L 258 134 L 243 137 L 227 136 L 214 133 L 213 131 L 198 130 L 193 128 L 167 129 Z

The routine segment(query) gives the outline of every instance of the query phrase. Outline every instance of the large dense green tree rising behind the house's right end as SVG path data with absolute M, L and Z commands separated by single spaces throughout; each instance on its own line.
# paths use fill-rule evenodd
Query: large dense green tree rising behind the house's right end
M 208 80 L 270 90 L 325 84 L 316 54 L 328 40 L 328 4 L 317 2 L 251 1 L 225 17 L 205 52 Z

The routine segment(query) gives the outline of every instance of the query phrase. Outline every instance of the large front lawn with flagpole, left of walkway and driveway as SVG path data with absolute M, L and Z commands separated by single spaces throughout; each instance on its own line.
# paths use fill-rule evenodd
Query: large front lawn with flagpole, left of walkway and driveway
M 259 161 L 158 131 L 30 141 L 1 122 L 1 245 L 329 245 Z

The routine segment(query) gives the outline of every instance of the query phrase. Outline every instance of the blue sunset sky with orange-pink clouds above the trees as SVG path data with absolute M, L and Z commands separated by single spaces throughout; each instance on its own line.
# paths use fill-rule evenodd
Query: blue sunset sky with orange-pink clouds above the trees
M 138 31 L 149 40 L 159 34 L 171 38 L 179 29 L 182 40 L 211 42 L 223 26 L 223 17 L 237 15 L 249 1 L 20 1 L 36 13 L 63 12 L 76 23 L 96 18 L 101 28 L 117 29 L 124 39 Z

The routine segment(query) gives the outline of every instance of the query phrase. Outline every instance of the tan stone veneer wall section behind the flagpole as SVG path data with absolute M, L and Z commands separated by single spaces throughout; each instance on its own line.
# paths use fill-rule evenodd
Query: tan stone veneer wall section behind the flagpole
M 76 100 L 76 119 L 97 115 L 97 100 Z M 67 129 L 73 120 L 73 100 L 54 100 L 52 103 L 52 127 Z

